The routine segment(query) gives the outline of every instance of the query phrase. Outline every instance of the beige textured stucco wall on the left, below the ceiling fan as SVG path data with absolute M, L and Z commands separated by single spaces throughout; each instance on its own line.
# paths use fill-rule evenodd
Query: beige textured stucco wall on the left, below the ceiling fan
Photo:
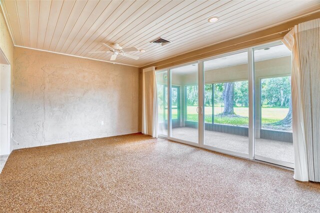
M 138 104 L 139 68 L 14 48 L 14 148 L 138 132 Z

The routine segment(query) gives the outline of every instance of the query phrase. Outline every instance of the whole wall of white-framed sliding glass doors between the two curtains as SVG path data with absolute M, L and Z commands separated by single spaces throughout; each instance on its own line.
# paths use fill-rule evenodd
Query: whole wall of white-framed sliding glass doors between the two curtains
M 159 71 L 159 134 L 293 167 L 290 66 L 273 43 Z

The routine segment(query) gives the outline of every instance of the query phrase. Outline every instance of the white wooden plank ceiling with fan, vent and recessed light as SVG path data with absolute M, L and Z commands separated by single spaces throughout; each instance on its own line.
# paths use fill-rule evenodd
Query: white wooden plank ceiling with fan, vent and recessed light
M 320 10 L 320 0 L 1 0 L 15 45 L 106 60 L 99 42 L 134 46 L 144 66 Z M 207 21 L 218 16 L 215 23 Z M 162 36 L 172 43 L 149 41 Z

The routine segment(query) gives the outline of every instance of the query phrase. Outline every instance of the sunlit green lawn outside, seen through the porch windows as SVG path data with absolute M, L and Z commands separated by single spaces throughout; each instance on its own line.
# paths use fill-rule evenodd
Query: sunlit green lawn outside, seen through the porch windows
M 159 109 L 159 118 L 163 114 L 163 109 Z M 204 107 L 204 120 L 205 122 L 212 122 L 212 108 Z M 234 113 L 238 116 L 221 116 L 223 106 L 214 106 L 214 123 L 230 124 L 230 125 L 248 125 L 248 107 L 234 107 Z M 162 112 L 162 113 L 161 113 Z M 261 117 L 263 123 L 272 123 L 283 119 L 288 112 L 288 108 L 261 108 Z M 177 118 L 177 109 L 172 109 L 172 119 Z M 161 118 L 160 118 L 161 119 Z M 196 106 L 187 106 L 187 120 L 197 121 Z

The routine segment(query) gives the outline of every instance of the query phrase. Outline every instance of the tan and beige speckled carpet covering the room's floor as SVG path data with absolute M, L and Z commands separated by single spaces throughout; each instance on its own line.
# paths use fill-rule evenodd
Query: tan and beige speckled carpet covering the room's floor
M 320 184 L 293 172 L 129 134 L 14 150 L 0 212 L 316 212 Z

